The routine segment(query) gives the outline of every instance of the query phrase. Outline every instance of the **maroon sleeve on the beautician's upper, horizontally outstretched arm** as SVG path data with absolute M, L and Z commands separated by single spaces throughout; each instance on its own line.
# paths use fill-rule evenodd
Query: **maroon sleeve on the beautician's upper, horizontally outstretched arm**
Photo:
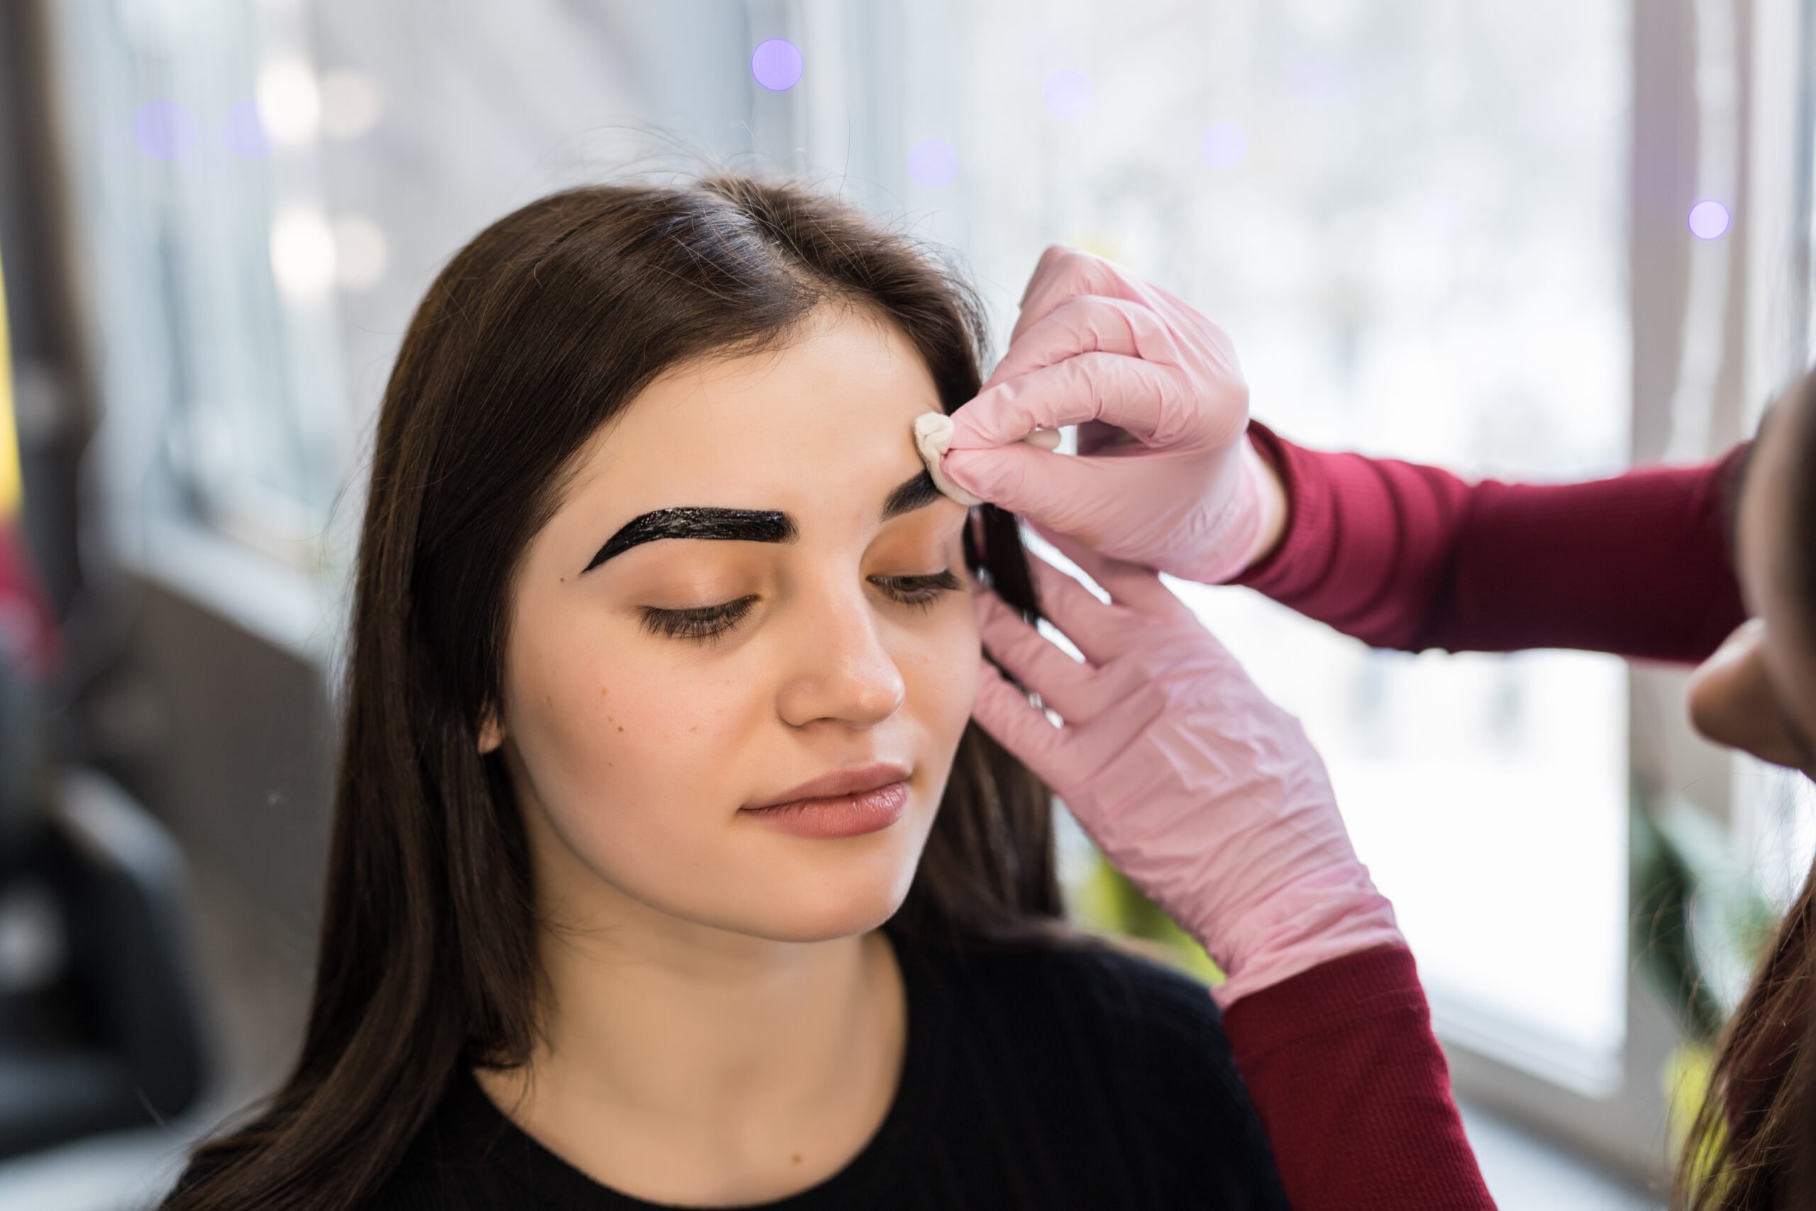
M 1237 579 L 1378 648 L 1584 648 L 1694 663 L 1745 621 L 1716 463 L 1567 485 L 1306 450 L 1251 425 L 1291 501 Z

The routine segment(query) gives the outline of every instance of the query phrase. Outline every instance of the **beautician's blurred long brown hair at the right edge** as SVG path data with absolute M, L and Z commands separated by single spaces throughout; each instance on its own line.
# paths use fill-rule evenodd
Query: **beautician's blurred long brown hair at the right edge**
M 1791 452 L 1792 592 L 1816 637 L 1816 374 L 1772 418 Z M 1756 458 L 1747 456 L 1749 463 Z M 1674 1204 L 1693 1211 L 1816 1207 L 1816 866 L 1780 922 L 1716 1048 L 1678 1162 Z

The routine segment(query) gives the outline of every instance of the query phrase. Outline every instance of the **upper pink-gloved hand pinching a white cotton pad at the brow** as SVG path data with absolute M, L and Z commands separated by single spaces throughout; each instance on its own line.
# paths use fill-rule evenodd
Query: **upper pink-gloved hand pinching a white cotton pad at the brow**
M 1215 585 L 1278 530 L 1229 338 L 1090 252 L 1046 251 L 1008 354 L 952 419 L 952 483 L 1117 559 Z M 1017 445 L 1061 425 L 1077 456 Z

